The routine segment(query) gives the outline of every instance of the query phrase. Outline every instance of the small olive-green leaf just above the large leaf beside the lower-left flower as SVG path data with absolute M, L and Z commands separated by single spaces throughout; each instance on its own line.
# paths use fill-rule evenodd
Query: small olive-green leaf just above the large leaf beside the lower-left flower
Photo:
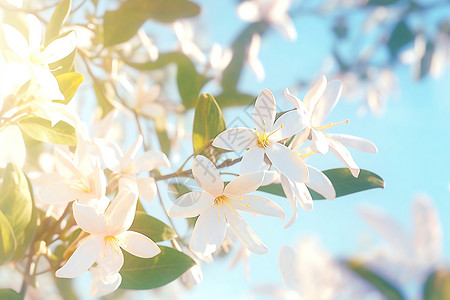
M 130 230 L 142 233 L 155 243 L 172 240 L 177 237 L 172 228 L 142 211 L 136 212 Z

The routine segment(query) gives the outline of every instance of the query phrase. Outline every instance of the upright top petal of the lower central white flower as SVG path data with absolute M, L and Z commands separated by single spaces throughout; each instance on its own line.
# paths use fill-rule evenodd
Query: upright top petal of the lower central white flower
M 219 174 L 219 171 L 214 164 L 204 157 L 203 155 L 197 155 L 192 163 L 192 174 L 198 185 L 217 197 L 223 192 L 223 180 Z

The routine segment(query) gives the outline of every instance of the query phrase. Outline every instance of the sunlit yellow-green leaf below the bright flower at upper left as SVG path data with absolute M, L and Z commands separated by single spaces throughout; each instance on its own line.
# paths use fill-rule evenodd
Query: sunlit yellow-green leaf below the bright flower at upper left
M 29 117 L 19 122 L 20 129 L 35 140 L 52 144 L 77 144 L 75 128 L 60 121 L 52 127 L 49 120 L 38 117 Z

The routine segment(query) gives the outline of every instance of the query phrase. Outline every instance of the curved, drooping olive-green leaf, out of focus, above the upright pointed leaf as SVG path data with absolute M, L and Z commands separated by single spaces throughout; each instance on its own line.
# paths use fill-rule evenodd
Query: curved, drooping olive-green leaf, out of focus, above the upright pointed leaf
M 178 67 L 178 91 L 183 100 L 183 105 L 187 109 L 194 107 L 200 90 L 210 80 L 209 77 L 199 74 L 192 61 L 186 55 L 179 52 L 162 53 L 154 62 L 133 63 L 126 61 L 126 63 L 141 71 L 157 70 L 168 64 L 175 63 Z

